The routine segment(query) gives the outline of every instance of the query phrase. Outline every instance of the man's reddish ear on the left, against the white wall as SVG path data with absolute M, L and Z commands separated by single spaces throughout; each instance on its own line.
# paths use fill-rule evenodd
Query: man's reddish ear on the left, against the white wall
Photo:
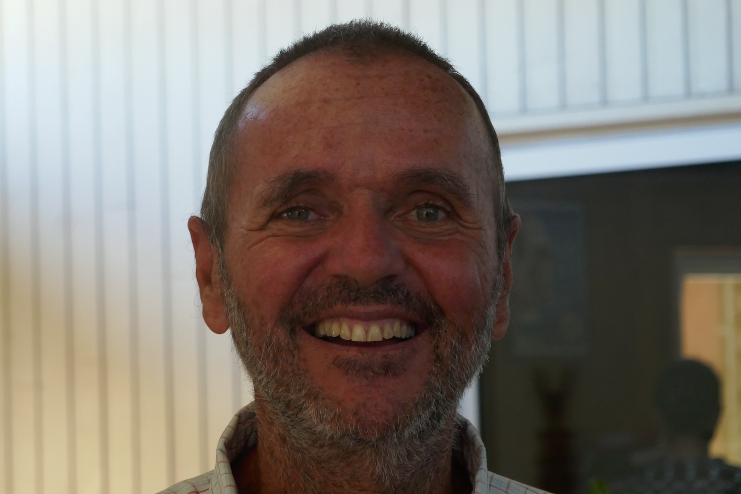
M 229 321 L 224 310 L 222 290 L 219 279 L 219 253 L 208 241 L 203 221 L 197 216 L 190 216 L 187 221 L 190 240 L 196 253 L 196 280 L 201 292 L 203 320 L 216 334 L 226 333 Z

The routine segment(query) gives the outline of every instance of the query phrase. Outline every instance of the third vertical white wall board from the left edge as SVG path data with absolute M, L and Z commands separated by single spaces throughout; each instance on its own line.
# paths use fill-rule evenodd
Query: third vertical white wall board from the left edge
M 105 466 L 101 457 L 102 378 L 96 296 L 96 203 L 94 42 L 90 1 L 67 4 L 70 284 L 76 403 L 76 479 L 79 493 L 101 490 Z

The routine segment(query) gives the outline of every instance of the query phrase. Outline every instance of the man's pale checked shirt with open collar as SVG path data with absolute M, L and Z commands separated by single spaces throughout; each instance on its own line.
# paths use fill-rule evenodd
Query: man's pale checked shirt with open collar
M 458 416 L 462 431 L 453 447 L 465 461 L 473 485 L 472 494 L 548 494 L 542 490 L 511 481 L 486 469 L 486 450 L 476 427 Z M 257 443 L 257 417 L 253 404 L 239 410 L 227 425 L 216 447 L 216 467 L 208 473 L 179 482 L 159 494 L 237 494 L 231 461 L 245 448 Z

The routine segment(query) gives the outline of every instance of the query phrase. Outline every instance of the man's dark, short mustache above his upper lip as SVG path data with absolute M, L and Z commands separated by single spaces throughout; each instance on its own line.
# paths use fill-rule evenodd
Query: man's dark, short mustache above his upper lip
M 416 316 L 428 326 L 445 321 L 445 313 L 433 298 L 416 293 L 399 281 L 382 279 L 371 287 L 363 288 L 351 278 L 302 287 L 282 311 L 280 321 L 293 336 L 306 321 L 318 318 L 328 310 L 351 305 L 389 305 Z

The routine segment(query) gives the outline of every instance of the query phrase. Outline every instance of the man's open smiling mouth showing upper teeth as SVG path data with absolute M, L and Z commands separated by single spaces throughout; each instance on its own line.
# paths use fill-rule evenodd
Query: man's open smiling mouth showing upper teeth
M 324 319 L 305 327 L 307 333 L 325 341 L 345 344 L 382 342 L 385 344 L 407 341 L 419 334 L 419 326 L 402 319 L 359 321 L 357 319 Z

